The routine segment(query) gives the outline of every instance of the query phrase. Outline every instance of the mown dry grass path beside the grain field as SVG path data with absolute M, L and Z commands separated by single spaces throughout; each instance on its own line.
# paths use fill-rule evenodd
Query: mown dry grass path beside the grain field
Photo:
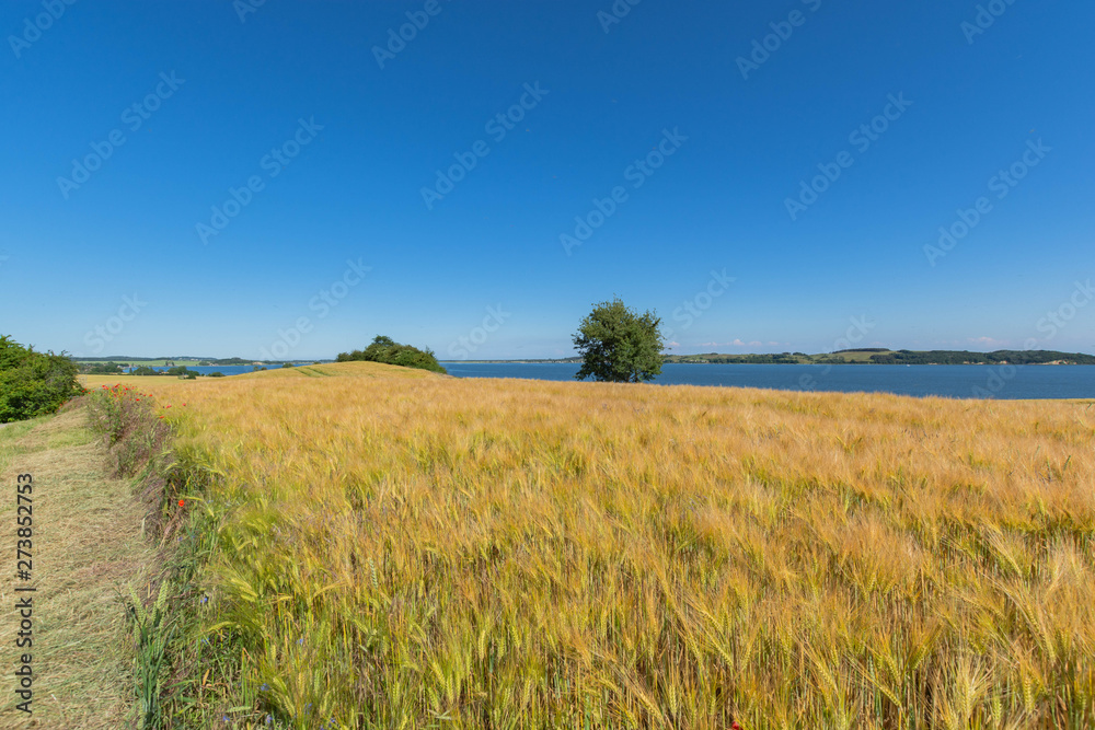
M 119 591 L 145 586 L 154 546 L 130 485 L 108 478 L 83 407 L 0 429 L 0 728 L 132 725 L 132 645 Z M 15 477 L 34 476 L 34 646 L 16 649 Z M 21 593 L 19 595 L 26 595 Z M 33 656 L 34 714 L 12 672 Z

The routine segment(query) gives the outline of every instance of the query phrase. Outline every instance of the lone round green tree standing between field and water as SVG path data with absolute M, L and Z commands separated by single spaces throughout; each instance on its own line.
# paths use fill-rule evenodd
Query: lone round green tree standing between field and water
M 619 297 L 593 305 L 574 335 L 574 348 L 581 355 L 577 380 L 641 383 L 661 372 L 665 340 L 655 312 L 638 314 Z

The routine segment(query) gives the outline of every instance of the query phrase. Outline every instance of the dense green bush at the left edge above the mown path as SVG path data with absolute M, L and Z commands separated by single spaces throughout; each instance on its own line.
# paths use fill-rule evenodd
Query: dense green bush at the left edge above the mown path
M 35 352 L 0 335 L 0 424 L 43 416 L 83 393 L 71 358 Z

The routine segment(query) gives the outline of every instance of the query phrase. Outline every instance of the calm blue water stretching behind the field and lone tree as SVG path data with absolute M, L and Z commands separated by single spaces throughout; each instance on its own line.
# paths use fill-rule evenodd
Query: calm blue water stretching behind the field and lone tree
M 566 363 L 442 364 L 457 378 L 573 380 L 578 372 L 578 366 Z M 1091 398 L 1095 397 L 1095 366 L 667 364 L 654 382 L 955 398 Z

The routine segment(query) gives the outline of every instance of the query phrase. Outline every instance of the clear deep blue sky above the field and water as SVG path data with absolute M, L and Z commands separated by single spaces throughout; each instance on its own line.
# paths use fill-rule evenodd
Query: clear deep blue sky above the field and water
M 0 7 L 0 333 L 1095 351 L 1091 3 L 252 1 Z

